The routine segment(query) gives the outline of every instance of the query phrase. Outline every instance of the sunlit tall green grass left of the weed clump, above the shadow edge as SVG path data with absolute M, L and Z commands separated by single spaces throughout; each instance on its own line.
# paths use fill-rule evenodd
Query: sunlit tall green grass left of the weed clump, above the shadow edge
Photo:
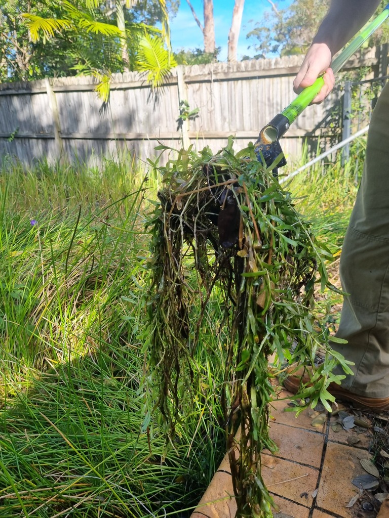
M 0 178 L 5 393 L 16 372 L 25 381 L 126 333 L 124 321 L 116 329 L 110 318 L 124 311 L 120 297 L 134 288 L 147 247 L 136 220 L 144 187 L 119 181 L 112 164 L 106 176 L 86 173 L 44 167 Z M 108 196 L 107 178 L 115 188 Z

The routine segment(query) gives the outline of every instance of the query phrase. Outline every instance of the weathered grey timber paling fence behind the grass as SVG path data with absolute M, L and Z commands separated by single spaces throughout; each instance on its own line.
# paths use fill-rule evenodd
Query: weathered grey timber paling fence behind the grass
M 29 83 L 0 84 L 0 157 L 25 164 L 34 159 L 68 160 L 77 157 L 99 163 L 124 150 L 141 161 L 158 155 L 161 141 L 175 149 L 193 143 L 214 152 L 229 135 L 242 149 L 254 141 L 260 128 L 295 97 L 293 78 L 302 56 L 239 63 L 177 67 L 157 94 L 144 75 L 115 74 L 110 102 L 102 106 L 91 77 L 54 78 Z M 346 69 L 373 66 L 378 74 L 379 49 L 368 49 Z M 329 121 L 339 91 L 319 106 L 305 110 L 283 138 L 290 157 L 301 152 L 301 138 L 322 147 L 338 138 Z M 177 124 L 179 103 L 199 108 L 198 117 Z

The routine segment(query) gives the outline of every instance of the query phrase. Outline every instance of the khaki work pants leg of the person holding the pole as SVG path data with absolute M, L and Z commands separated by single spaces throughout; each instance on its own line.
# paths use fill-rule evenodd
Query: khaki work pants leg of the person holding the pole
M 374 107 L 362 181 L 340 259 L 344 297 L 331 347 L 355 363 L 342 387 L 389 397 L 389 83 Z M 340 373 L 342 369 L 338 369 Z

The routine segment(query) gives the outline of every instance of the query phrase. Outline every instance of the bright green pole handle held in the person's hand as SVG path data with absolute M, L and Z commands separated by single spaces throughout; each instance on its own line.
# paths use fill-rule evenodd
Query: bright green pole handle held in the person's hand
M 336 74 L 344 65 L 346 61 L 350 59 L 350 57 L 356 52 L 360 46 L 373 34 L 374 31 L 386 20 L 389 16 L 389 4 L 385 7 L 385 9 L 372 20 L 364 30 L 351 40 L 349 45 L 345 47 L 342 52 L 335 58 L 335 60 L 331 63 L 331 68 L 334 70 L 334 74 Z M 287 106 L 281 114 L 285 116 L 289 124 L 294 122 L 299 114 L 307 108 L 309 104 L 312 103 L 313 99 L 316 95 L 321 91 L 324 85 L 324 79 L 322 77 L 318 77 L 316 81 L 311 84 L 310 87 L 304 88 L 304 90 L 293 100 L 289 106 Z

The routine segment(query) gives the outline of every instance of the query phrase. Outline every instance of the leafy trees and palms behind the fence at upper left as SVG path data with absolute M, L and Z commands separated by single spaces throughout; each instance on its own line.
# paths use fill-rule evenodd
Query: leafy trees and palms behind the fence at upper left
M 130 3 L 120 0 L 109 7 L 102 2 L 69 2 L 50 4 L 16 3 L 7 0 L 0 10 L 3 64 L 2 80 L 39 79 L 41 77 L 90 74 L 101 77 L 98 93 L 105 102 L 113 73 L 151 70 L 155 61 L 142 61 L 144 39 L 159 36 L 159 61 L 174 66 L 169 50 L 168 6 L 164 0 L 148 2 L 144 9 L 153 9 L 149 18 L 161 23 L 162 30 L 144 22 L 147 18 L 134 12 Z M 162 38 L 160 35 L 162 34 Z M 141 51 L 138 52 L 140 50 Z M 165 55 L 163 55 L 165 54 Z M 151 71 L 152 84 L 159 84 L 165 75 L 161 68 Z

